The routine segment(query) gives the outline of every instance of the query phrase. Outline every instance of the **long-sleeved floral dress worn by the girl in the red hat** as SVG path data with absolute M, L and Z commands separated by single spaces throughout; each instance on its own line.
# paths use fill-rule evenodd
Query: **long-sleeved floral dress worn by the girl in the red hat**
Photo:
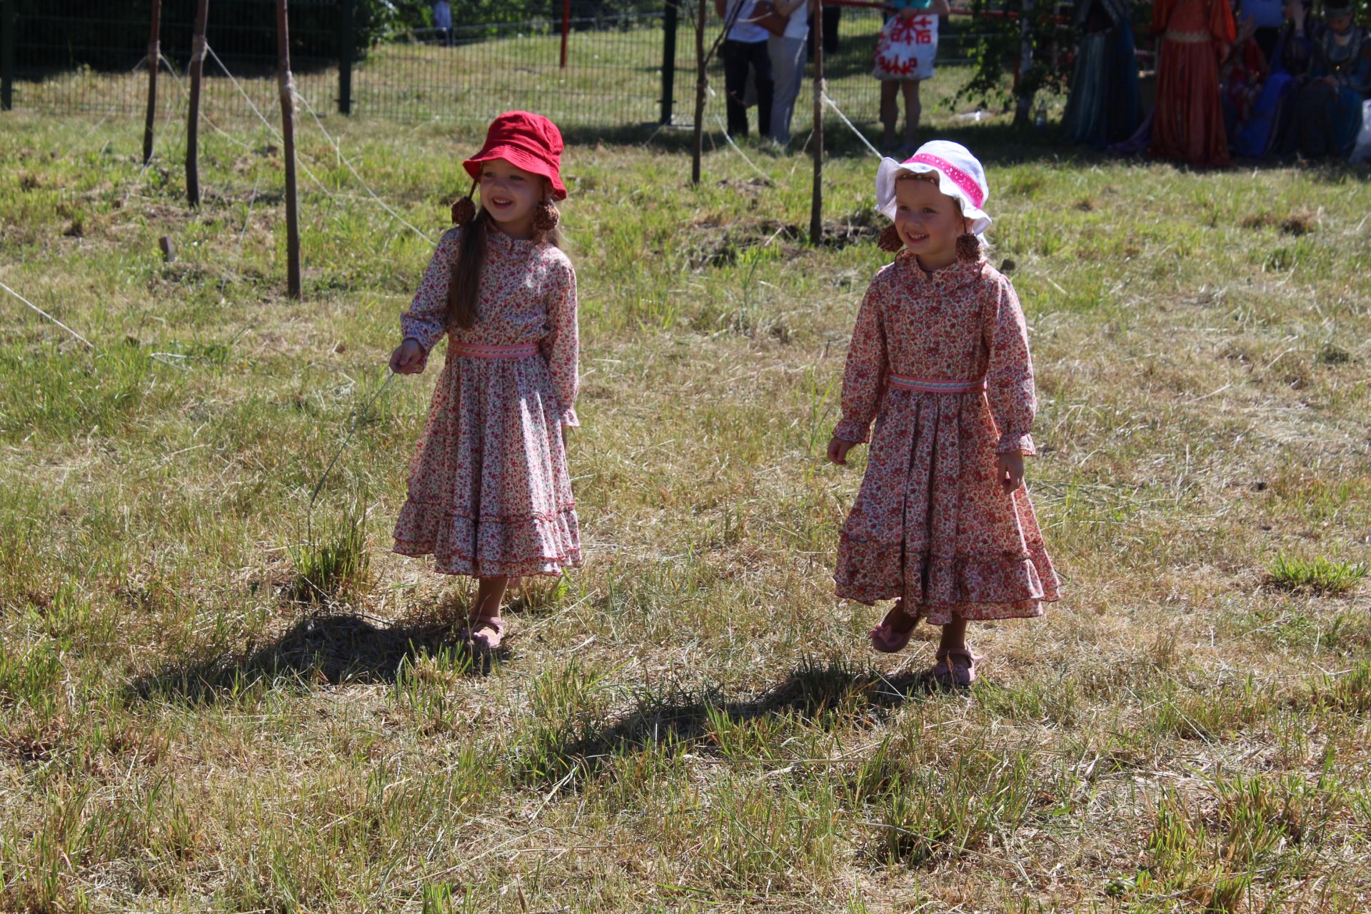
M 433 555 L 446 574 L 559 574 L 581 558 L 561 430 L 580 425 L 576 271 L 557 247 L 491 226 L 476 321 L 450 328 L 459 237 L 452 229 L 439 241 L 400 321 L 425 360 L 444 334 L 451 341 L 410 462 L 395 551 Z M 480 349 L 521 344 L 528 354 Z

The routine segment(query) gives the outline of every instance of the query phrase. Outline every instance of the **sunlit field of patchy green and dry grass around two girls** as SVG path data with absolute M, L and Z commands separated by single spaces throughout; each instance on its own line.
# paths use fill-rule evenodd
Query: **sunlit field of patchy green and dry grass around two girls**
M 1067 584 L 964 693 L 832 597 L 850 137 L 821 249 L 798 155 L 569 148 L 587 562 L 473 663 L 388 552 L 436 371 L 361 408 L 474 137 L 329 119 L 411 232 L 302 126 L 295 303 L 252 123 L 191 212 L 175 130 L 140 171 L 138 123 L 3 115 L 0 282 L 93 348 L 0 297 L 0 909 L 1368 910 L 1367 171 L 932 121 L 987 160 Z

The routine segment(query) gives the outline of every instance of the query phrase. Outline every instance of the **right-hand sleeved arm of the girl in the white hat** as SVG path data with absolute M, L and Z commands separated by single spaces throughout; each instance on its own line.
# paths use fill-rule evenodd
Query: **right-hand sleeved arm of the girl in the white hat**
M 1036 454 L 1030 434 L 1038 412 L 1038 395 L 1032 382 L 1032 358 L 1028 355 L 1028 326 L 1009 280 L 1001 278 L 991 291 L 982 318 L 982 334 L 990 351 L 986 396 L 990 415 L 999 429 L 995 452 Z

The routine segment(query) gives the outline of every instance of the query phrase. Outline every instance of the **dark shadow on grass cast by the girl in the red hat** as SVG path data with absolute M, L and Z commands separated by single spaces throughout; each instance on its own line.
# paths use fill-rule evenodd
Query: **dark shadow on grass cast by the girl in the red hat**
M 280 680 L 302 688 L 395 682 L 406 663 L 424 656 L 466 676 L 485 676 L 505 658 L 503 648 L 494 655 L 472 651 L 457 629 L 433 619 L 387 625 L 350 613 L 314 613 L 266 647 L 169 665 L 134 680 L 129 693 L 134 700 L 213 704 Z

